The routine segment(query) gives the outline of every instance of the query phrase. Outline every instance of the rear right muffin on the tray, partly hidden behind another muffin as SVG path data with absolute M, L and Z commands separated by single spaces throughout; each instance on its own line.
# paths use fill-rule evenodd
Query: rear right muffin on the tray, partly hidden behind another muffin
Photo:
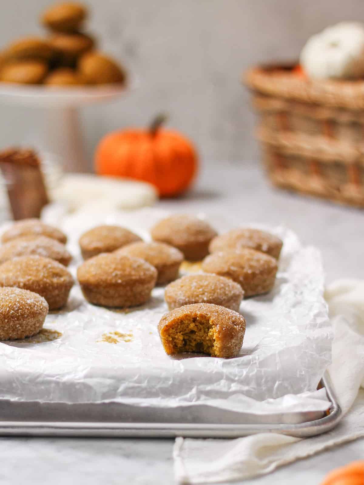
M 277 236 L 259 229 L 232 229 L 225 234 L 216 236 L 209 245 L 210 253 L 225 249 L 251 248 L 269 254 L 278 259 L 283 242 Z

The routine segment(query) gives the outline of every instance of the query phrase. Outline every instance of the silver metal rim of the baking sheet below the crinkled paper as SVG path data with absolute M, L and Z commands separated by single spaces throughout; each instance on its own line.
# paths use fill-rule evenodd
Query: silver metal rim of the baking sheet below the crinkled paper
M 256 433 L 314 436 L 331 430 L 342 416 L 340 404 L 325 372 L 319 386 L 326 389 L 330 409 L 322 412 L 281 413 L 260 417 L 244 415 L 244 421 L 187 422 L 154 414 L 154 420 L 128 420 L 128 409 L 118 403 L 64 404 L 0 401 L 1 436 L 98 436 L 98 437 L 202 437 L 237 438 Z M 236 413 L 237 414 L 237 413 Z M 163 419 L 164 418 L 164 419 Z

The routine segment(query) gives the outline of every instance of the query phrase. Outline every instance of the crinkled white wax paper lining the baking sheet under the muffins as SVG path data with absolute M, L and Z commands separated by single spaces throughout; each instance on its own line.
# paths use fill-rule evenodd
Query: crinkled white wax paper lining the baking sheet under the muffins
M 48 222 L 57 224 L 51 216 Z M 81 262 L 77 241 L 86 229 L 115 223 L 148 239 L 162 216 L 156 209 L 67 216 L 58 225 L 75 256 L 71 272 Z M 221 231 L 244 224 L 208 220 Z M 302 247 L 290 230 L 270 230 L 284 241 L 277 281 L 269 294 L 242 302 L 247 330 L 238 357 L 167 356 L 157 331 L 167 311 L 163 288 L 143 307 L 118 310 L 89 305 L 75 285 L 67 307 L 50 313 L 44 325 L 59 338 L 0 343 L 1 398 L 175 409 L 204 404 L 256 414 L 327 408 L 324 391 L 315 390 L 331 361 L 320 254 Z

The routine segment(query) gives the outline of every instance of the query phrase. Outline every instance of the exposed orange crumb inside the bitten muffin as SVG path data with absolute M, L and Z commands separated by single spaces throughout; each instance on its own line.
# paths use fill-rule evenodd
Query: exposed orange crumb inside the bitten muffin
M 198 352 L 214 356 L 214 333 L 208 317 L 184 315 L 165 330 L 163 338 L 169 354 Z

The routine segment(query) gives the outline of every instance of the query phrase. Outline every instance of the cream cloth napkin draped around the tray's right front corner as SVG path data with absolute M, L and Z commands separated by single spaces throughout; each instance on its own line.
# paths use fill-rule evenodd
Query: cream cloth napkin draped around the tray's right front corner
M 232 440 L 179 437 L 173 449 L 177 483 L 252 478 L 364 436 L 364 281 L 335 281 L 325 297 L 334 331 L 329 373 L 345 414 L 339 425 L 306 439 L 276 433 Z

